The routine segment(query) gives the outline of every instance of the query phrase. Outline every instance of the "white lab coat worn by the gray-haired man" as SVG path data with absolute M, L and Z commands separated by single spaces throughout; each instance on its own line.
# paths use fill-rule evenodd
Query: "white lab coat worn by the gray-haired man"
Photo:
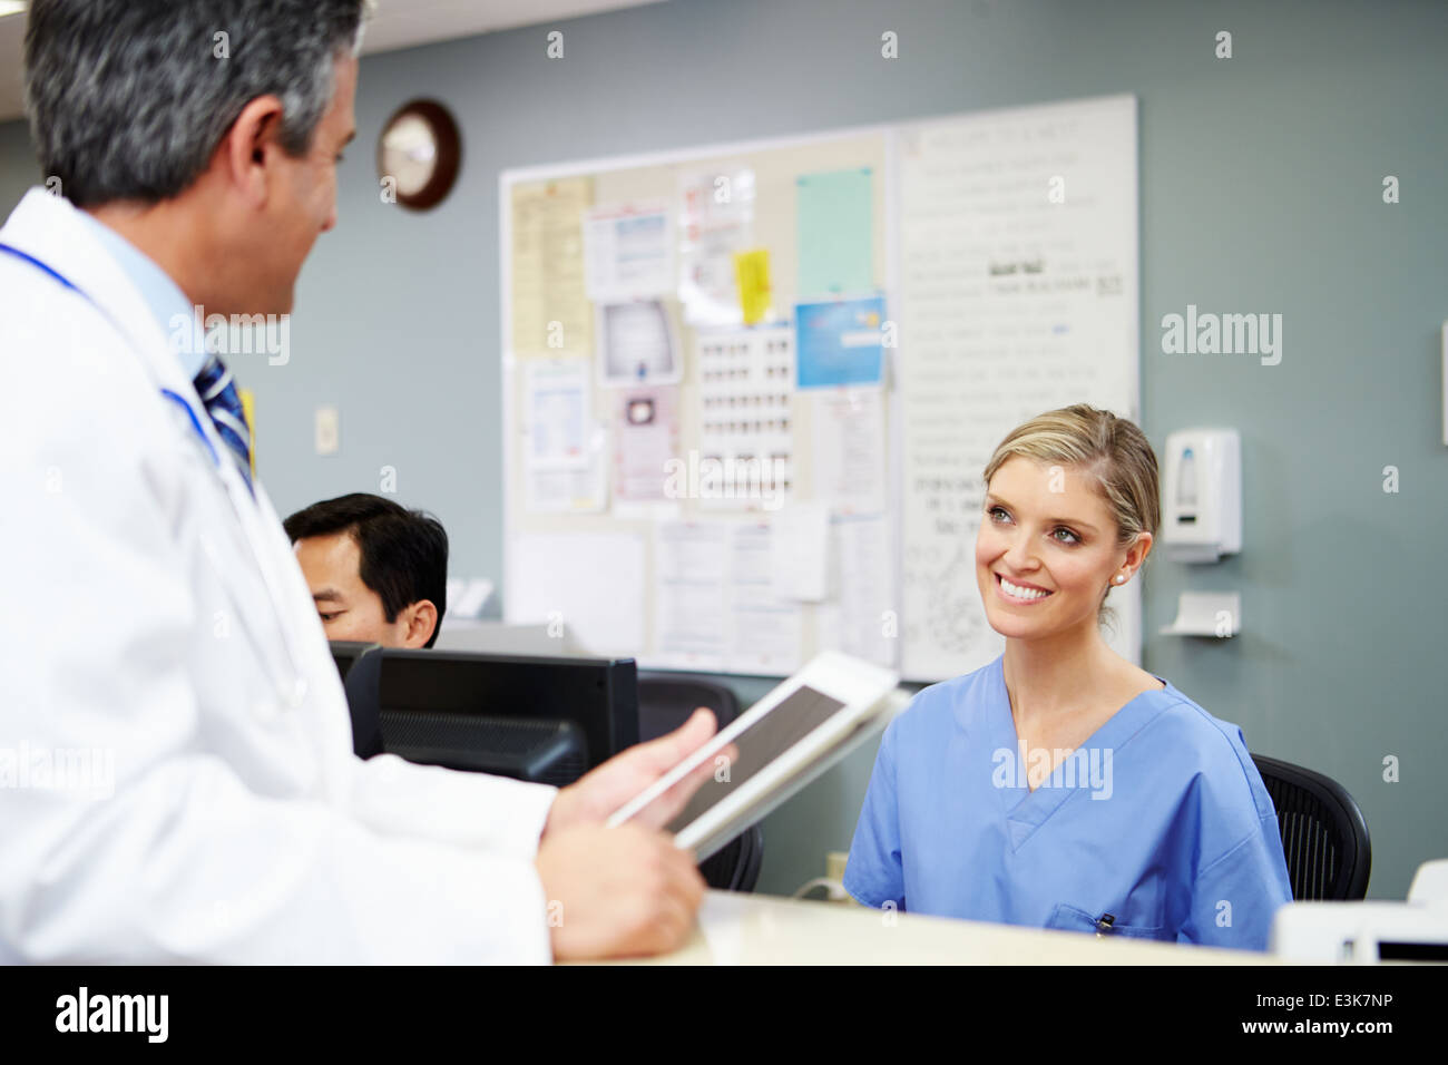
M 135 285 L 39 188 L 0 242 L 90 297 L 0 254 L 0 962 L 549 961 L 555 790 L 353 756 L 281 523 Z

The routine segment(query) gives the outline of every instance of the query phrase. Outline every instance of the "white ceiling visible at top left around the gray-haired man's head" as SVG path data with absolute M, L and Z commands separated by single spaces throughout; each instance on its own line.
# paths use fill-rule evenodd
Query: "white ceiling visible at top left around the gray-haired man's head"
M 362 38 L 362 52 L 388 52 L 650 3 L 660 0 L 378 0 L 376 13 Z M 0 19 L 0 122 L 25 113 L 20 90 L 23 54 L 25 16 Z

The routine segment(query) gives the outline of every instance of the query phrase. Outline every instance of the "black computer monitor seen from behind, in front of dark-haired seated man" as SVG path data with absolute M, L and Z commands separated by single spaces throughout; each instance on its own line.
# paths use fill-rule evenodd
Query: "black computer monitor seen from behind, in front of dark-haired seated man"
M 639 742 L 631 658 L 381 649 L 362 661 L 348 701 L 368 707 L 363 720 L 375 706 L 381 751 L 413 762 L 563 785 Z

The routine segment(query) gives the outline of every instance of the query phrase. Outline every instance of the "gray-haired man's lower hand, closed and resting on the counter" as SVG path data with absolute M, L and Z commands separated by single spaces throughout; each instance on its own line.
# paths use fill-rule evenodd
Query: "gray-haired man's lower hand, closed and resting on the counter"
M 704 897 L 694 855 L 641 824 L 575 824 L 539 845 L 555 961 L 628 958 L 683 945 Z

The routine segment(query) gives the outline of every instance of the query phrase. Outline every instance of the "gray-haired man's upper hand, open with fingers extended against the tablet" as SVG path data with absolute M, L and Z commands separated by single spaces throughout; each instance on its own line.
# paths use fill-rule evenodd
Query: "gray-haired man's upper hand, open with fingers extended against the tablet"
M 618 807 L 708 742 L 714 730 L 714 714 L 699 707 L 689 720 L 669 735 L 631 746 L 579 777 L 553 800 L 543 826 L 543 839 L 575 824 L 602 824 Z M 733 761 L 738 752 L 734 746 L 728 746 L 720 756 Z M 714 775 L 715 761 L 704 759 L 694 772 L 640 810 L 631 823 L 662 829 L 672 822 L 694 798 L 694 793 Z

